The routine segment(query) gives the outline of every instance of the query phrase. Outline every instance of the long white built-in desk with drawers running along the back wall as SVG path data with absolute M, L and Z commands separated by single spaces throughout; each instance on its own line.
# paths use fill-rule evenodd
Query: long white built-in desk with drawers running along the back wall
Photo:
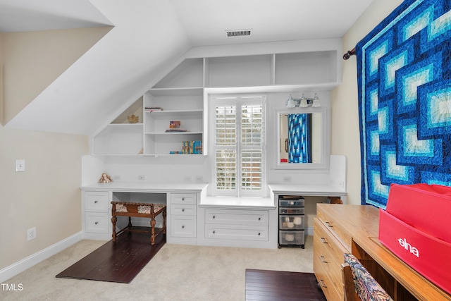
M 209 197 L 206 183 L 126 183 L 85 185 L 82 229 L 85 238 L 110 240 L 111 201 L 166 204 L 168 243 L 227 247 L 278 246 L 278 195 L 341 197 L 327 185 L 268 185 L 270 197 Z M 157 227 L 162 221 L 156 220 Z M 126 221 L 118 221 L 117 227 Z M 140 224 L 142 223 L 142 224 Z M 136 226 L 148 226 L 137 219 Z

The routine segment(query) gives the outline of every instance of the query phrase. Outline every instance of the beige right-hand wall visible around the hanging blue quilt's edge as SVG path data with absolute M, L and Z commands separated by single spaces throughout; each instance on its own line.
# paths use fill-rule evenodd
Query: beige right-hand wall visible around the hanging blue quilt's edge
M 402 0 L 373 0 L 343 37 L 343 54 L 399 6 Z M 360 204 L 360 134 L 357 108 L 357 60 L 342 62 L 342 84 L 332 93 L 331 153 L 347 156 L 347 203 Z

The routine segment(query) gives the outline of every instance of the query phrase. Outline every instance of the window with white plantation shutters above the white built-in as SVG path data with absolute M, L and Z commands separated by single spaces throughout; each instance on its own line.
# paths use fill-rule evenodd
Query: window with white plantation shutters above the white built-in
M 214 98 L 214 195 L 263 196 L 264 97 Z

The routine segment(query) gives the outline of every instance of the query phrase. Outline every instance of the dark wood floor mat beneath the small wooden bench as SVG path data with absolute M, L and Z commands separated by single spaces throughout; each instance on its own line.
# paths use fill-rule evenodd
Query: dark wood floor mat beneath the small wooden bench
M 116 242 L 106 242 L 56 277 L 130 283 L 165 243 L 163 233 L 152 246 L 149 234 L 124 232 Z

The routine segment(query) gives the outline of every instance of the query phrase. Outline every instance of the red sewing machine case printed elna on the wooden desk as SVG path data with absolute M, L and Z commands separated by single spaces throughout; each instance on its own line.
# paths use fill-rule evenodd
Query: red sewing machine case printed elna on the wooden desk
M 451 294 L 451 187 L 390 186 L 379 209 L 379 240 L 429 281 Z

